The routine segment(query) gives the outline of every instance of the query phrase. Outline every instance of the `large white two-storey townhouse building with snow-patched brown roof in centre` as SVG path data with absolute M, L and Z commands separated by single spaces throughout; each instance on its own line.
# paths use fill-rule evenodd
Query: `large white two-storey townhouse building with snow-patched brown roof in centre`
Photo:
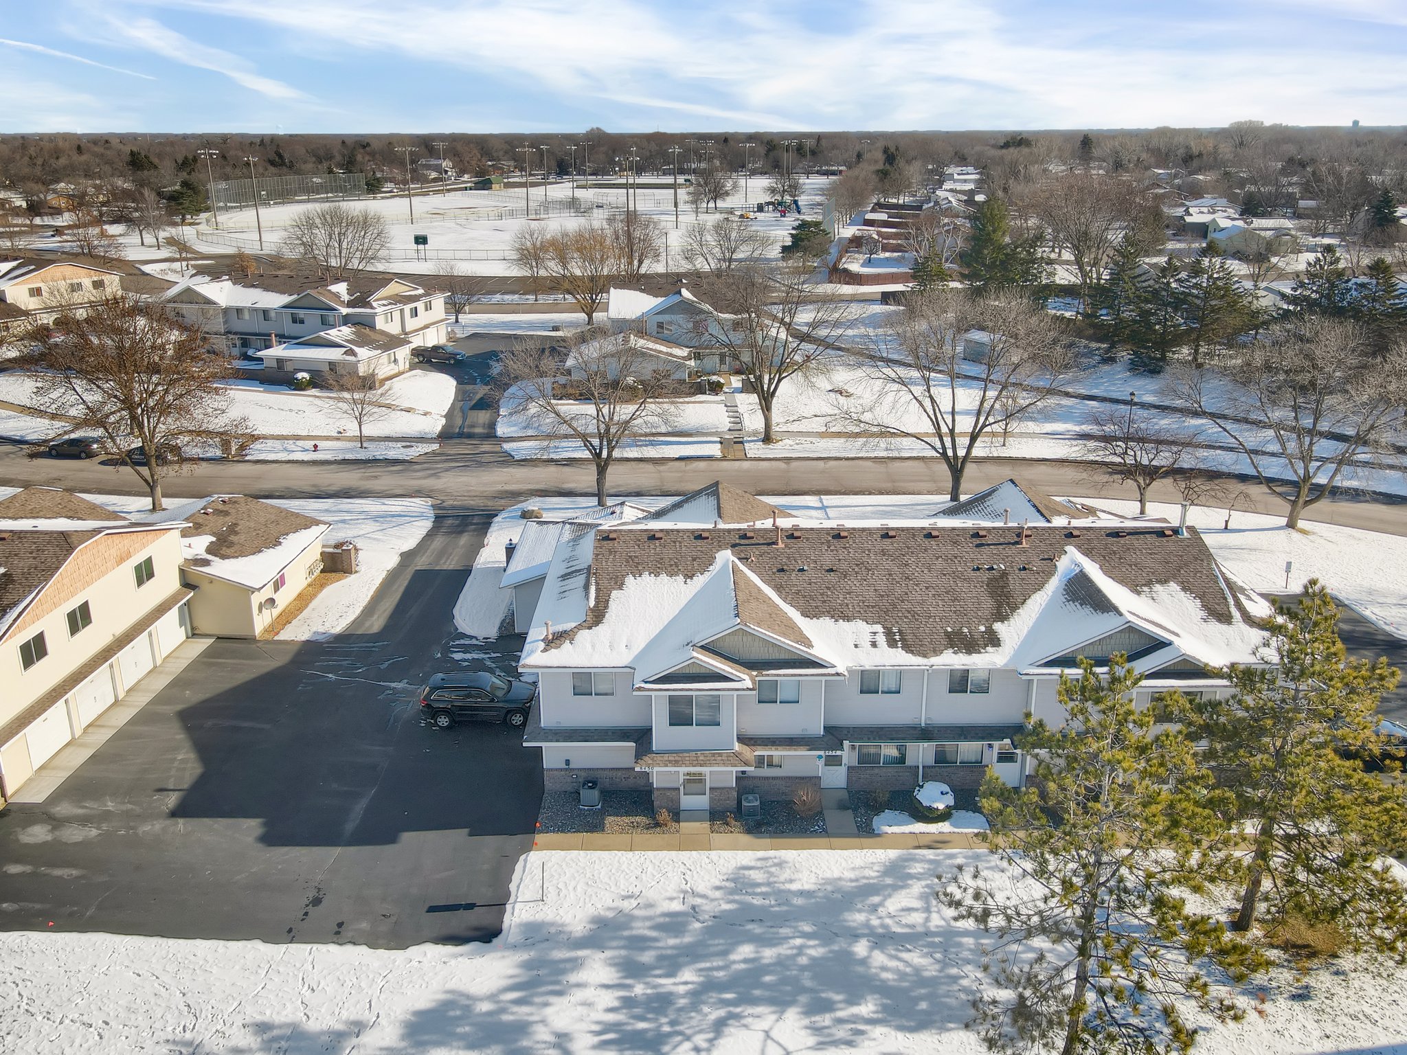
M 1078 656 L 1127 653 L 1144 705 L 1256 663 L 1269 606 L 1193 529 L 1090 519 L 1014 481 L 955 513 L 844 525 L 715 484 L 564 530 L 519 664 L 539 678 L 525 744 L 546 786 L 733 810 L 803 785 L 1020 785 L 1014 740 L 1029 715 L 1064 719 Z

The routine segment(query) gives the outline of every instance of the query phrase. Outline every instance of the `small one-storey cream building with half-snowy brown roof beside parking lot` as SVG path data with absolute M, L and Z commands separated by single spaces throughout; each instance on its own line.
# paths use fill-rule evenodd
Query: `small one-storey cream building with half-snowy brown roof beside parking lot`
M 182 529 L 196 633 L 257 637 L 322 571 L 328 525 L 257 498 L 211 498 Z

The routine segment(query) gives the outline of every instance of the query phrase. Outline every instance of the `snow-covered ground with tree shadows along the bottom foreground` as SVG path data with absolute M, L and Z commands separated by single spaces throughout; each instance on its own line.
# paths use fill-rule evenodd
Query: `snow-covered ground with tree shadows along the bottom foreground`
M 983 934 L 934 897 L 983 851 L 532 852 L 487 945 L 378 951 L 6 933 L 0 1048 L 418 1055 L 964 1052 Z M 1278 972 L 1204 1055 L 1407 1052 L 1407 969 Z

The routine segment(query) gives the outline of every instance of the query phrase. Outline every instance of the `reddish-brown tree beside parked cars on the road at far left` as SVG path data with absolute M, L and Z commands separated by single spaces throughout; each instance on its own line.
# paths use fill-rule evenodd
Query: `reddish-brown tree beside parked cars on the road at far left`
M 113 450 L 139 446 L 144 466 L 122 459 L 162 509 L 163 464 L 172 445 L 235 445 L 243 422 L 229 412 L 222 381 L 231 360 L 205 350 L 207 336 L 158 305 L 125 297 L 61 314 L 31 335 L 21 364 L 35 398 L 70 419 L 68 435 L 96 432 Z

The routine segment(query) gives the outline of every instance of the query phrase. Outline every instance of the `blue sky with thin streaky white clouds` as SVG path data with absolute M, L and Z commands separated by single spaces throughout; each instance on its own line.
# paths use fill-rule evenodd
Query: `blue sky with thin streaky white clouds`
M 1407 121 L 1407 0 L 0 0 L 0 131 Z

